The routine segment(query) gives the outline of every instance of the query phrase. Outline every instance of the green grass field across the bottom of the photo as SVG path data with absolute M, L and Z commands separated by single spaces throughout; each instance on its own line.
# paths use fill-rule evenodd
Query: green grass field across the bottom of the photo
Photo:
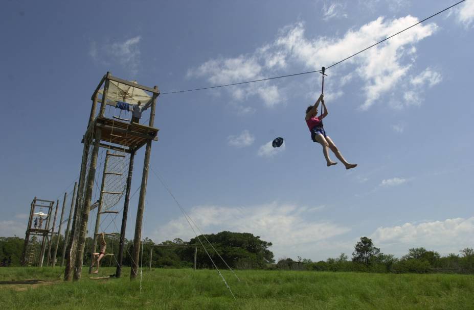
M 474 276 L 154 269 L 63 282 L 61 268 L 0 268 L 0 309 L 474 309 Z M 102 275 L 115 268 L 101 269 Z M 39 281 L 39 282 L 38 282 Z

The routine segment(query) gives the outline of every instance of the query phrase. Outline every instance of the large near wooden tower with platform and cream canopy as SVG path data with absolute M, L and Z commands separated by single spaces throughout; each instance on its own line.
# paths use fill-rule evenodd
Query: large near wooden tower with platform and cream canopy
M 101 89 L 102 87 L 103 89 Z M 141 98 L 144 101 L 140 102 L 139 99 L 133 97 L 134 93 L 141 93 L 143 95 Z M 99 94 L 101 94 L 101 98 L 99 98 Z M 144 94 L 147 94 L 148 97 Z M 116 150 L 130 154 L 122 226 L 120 231 L 119 253 L 117 255 L 117 277 L 121 276 L 122 271 L 122 257 L 128 204 L 130 200 L 133 159 L 136 152 L 142 146 L 146 147 L 137 219 L 135 224 L 135 234 L 133 239 L 133 251 L 131 253 L 132 268 L 130 272 L 130 278 L 137 276 L 151 143 L 152 141 L 157 141 L 158 133 L 158 129 L 153 127 L 153 124 L 155 118 L 156 100 L 159 95 L 160 91 L 157 86 L 150 88 L 135 82 L 122 80 L 118 77 L 112 76 L 110 72 L 107 72 L 107 74 L 102 77 L 102 80 L 95 89 L 91 98 L 92 108 L 87 123 L 87 130 L 82 140 L 84 148 L 73 225 L 69 240 L 67 240 L 67 264 L 64 271 L 65 280 L 71 280 L 72 278 L 77 280 L 81 277 L 87 222 L 92 205 L 97 157 L 101 147 L 108 150 Z M 149 109 L 149 120 L 147 125 L 140 124 L 140 119 L 136 118 L 127 120 L 120 117 L 108 118 L 105 116 L 106 106 L 110 106 L 111 108 L 120 107 L 123 110 L 124 105 L 129 105 L 130 107 L 137 106 L 137 102 L 139 103 L 138 106 L 143 104 L 146 106 L 146 110 Z M 100 104 L 100 109 L 97 109 L 98 104 Z

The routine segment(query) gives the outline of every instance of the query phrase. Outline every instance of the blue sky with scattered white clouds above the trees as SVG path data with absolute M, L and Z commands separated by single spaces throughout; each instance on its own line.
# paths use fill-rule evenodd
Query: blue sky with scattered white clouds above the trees
M 6 1 L 0 236 L 25 236 L 33 197 L 62 203 L 72 191 L 107 71 L 164 93 L 319 70 L 454 3 Z M 352 170 L 326 167 L 304 122 L 321 74 L 160 95 L 143 236 L 194 237 L 159 175 L 201 231 L 260 236 L 275 259 L 350 256 L 363 236 L 398 257 L 473 247 L 473 34 L 467 0 L 327 70 L 325 130 Z M 143 157 L 144 148 L 132 193 Z M 130 239 L 137 205 L 138 194 Z M 120 221 L 101 229 L 118 232 Z

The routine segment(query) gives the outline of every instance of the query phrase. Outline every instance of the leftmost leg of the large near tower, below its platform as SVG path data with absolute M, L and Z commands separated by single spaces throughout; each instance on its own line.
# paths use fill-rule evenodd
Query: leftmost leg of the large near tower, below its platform
M 87 127 L 87 130 L 92 130 L 92 128 Z M 76 264 L 76 252 L 77 252 L 77 241 L 79 239 L 79 225 L 81 223 L 81 210 L 82 210 L 82 193 L 84 192 L 84 184 L 85 184 L 85 175 L 86 175 L 86 167 L 87 167 L 87 158 L 89 156 L 89 146 L 90 143 L 86 141 L 86 135 L 84 135 L 84 147 L 82 150 L 82 162 L 81 162 L 81 169 L 79 172 L 79 184 L 77 186 L 77 194 L 76 194 L 76 202 L 74 207 L 74 217 L 73 217 L 73 224 L 71 226 L 70 231 L 70 238 L 67 241 L 67 248 L 66 248 L 66 268 L 64 268 L 64 280 L 71 281 L 72 280 L 72 271 L 75 269 Z M 92 133 L 91 133 L 92 134 Z M 91 141 L 92 142 L 92 141 Z

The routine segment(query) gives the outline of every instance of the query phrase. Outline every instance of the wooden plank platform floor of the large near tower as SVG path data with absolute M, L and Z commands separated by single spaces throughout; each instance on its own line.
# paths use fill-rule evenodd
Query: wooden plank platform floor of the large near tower
M 148 140 L 157 141 L 159 129 L 138 123 L 126 123 L 106 117 L 98 117 L 96 128 L 101 128 L 101 141 L 105 145 L 119 144 L 131 149 L 145 145 Z

